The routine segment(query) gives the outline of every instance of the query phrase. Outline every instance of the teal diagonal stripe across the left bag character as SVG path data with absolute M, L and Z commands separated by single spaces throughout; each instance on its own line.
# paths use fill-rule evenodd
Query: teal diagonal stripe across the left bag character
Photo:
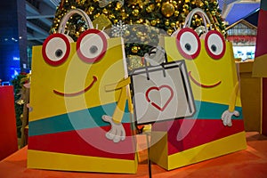
M 116 102 L 101 105 L 98 107 L 69 112 L 54 117 L 31 121 L 28 123 L 28 135 L 54 134 L 72 130 L 80 130 L 85 128 L 94 128 L 107 126 L 109 123 L 104 122 L 101 117 L 109 115 L 112 117 L 116 108 Z M 130 113 L 127 112 L 128 106 L 126 103 L 125 114 L 122 123 L 130 123 Z

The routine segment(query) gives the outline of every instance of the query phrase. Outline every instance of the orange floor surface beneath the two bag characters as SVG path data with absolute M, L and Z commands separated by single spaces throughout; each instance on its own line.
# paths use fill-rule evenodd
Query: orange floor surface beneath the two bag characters
M 145 137 L 140 137 L 140 163 L 137 174 L 93 174 L 93 173 L 75 173 L 59 172 L 47 170 L 27 169 L 27 147 L 16 152 L 9 158 L 0 162 L 0 177 L 53 177 L 53 178 L 84 178 L 84 177 L 149 177 L 147 164 L 147 151 L 142 150 L 145 147 Z M 261 134 L 247 133 L 247 150 L 241 150 L 219 158 L 213 158 L 191 166 L 185 166 L 172 171 L 152 164 L 151 177 L 165 178 L 194 178 L 194 177 L 215 177 L 215 178 L 266 178 L 267 177 L 267 137 Z

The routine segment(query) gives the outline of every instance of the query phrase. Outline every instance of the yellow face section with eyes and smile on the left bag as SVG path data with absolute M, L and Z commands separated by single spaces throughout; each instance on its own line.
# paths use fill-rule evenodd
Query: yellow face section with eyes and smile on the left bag
M 43 46 L 34 48 L 31 117 L 50 117 L 101 106 L 118 98 L 105 91 L 125 77 L 122 40 L 103 31 L 86 30 L 76 43 L 64 34 L 48 36 Z M 40 79 L 42 78 L 42 79 Z M 45 109 L 46 108 L 46 109 Z M 38 115 L 38 116 L 36 116 Z

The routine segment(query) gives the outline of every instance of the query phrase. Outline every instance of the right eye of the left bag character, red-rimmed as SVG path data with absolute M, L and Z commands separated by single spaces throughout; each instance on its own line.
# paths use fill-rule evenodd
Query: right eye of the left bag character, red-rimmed
M 107 46 L 107 38 L 100 30 L 88 29 L 77 39 L 77 55 L 88 63 L 100 61 Z

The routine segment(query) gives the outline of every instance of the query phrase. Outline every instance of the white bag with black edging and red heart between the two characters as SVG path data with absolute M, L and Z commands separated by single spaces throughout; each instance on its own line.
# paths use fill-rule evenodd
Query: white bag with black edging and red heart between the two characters
M 190 117 L 194 98 L 184 61 L 135 69 L 132 76 L 137 125 Z

